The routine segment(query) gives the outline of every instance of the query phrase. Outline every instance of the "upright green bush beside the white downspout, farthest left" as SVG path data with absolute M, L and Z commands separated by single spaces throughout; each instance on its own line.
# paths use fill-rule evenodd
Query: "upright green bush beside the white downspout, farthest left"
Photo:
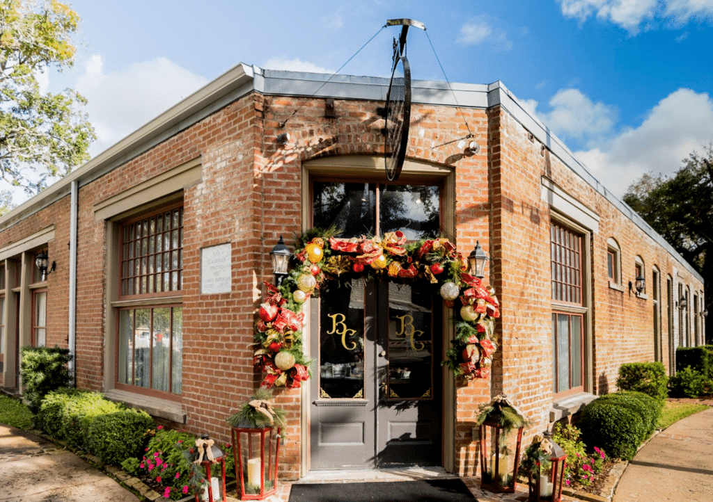
M 69 349 L 61 347 L 22 347 L 20 375 L 29 401 L 30 411 L 39 412 L 42 399 L 53 390 L 68 387 L 68 364 L 72 360 Z

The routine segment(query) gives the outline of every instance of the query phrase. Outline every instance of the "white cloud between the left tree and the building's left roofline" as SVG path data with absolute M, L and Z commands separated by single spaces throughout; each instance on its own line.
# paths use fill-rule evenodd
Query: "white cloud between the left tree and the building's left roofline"
M 106 74 L 101 56 L 92 56 L 84 68 L 76 90 L 87 98 L 86 110 L 96 129 L 97 140 L 90 148 L 93 157 L 207 83 L 167 58 Z

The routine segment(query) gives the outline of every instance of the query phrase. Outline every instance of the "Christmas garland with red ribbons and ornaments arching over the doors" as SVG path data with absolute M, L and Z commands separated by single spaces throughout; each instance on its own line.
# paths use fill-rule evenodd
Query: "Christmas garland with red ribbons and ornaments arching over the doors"
M 426 278 L 443 303 L 456 308 L 456 337 L 443 365 L 454 375 L 487 378 L 493 353 L 495 319 L 500 317 L 493 289 L 466 273 L 468 261 L 448 239 L 406 244 L 401 231 L 383 237 L 335 239 L 334 229 L 312 229 L 297 239 L 295 266 L 279 287 L 265 283 L 268 298 L 255 325 L 254 362 L 265 373 L 260 387 L 296 388 L 309 378 L 302 350 L 302 304 L 324 281 L 355 277 L 408 283 Z

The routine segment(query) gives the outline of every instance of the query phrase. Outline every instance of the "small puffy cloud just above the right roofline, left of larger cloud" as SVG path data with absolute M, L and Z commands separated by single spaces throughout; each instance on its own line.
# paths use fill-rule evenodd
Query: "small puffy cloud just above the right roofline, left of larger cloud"
M 536 112 L 537 102 L 525 100 L 556 135 L 593 147 L 608 137 L 617 117 L 617 109 L 605 103 L 594 103 L 578 89 L 561 89 L 550 100 L 549 113 Z

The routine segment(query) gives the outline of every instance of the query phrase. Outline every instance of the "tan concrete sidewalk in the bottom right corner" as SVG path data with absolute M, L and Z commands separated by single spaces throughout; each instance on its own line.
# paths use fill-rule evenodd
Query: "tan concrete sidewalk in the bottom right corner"
M 653 500 L 713 500 L 713 408 L 660 432 L 629 462 L 613 502 Z

